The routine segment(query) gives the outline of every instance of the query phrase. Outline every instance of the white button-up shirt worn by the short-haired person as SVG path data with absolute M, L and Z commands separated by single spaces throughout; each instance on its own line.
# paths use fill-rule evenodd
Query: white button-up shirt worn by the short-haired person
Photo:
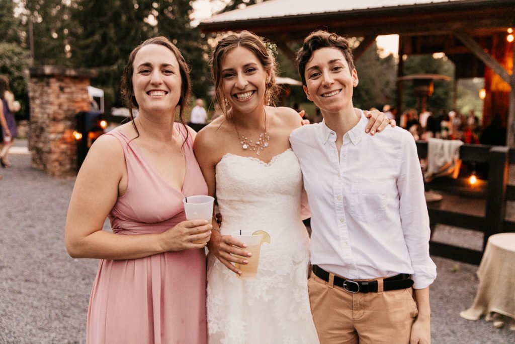
M 436 266 L 415 140 L 400 127 L 370 136 L 367 122 L 361 111 L 339 158 L 324 122 L 290 135 L 311 207 L 311 263 L 348 279 L 408 273 L 425 288 Z

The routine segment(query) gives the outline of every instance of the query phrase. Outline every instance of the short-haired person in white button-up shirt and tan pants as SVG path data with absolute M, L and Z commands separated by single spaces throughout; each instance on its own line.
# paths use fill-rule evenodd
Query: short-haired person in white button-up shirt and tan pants
M 320 340 L 430 342 L 436 266 L 415 140 L 399 127 L 364 135 L 344 38 L 313 32 L 298 61 L 304 91 L 324 118 L 290 135 L 312 212 L 310 300 Z M 359 290 L 370 285 L 375 292 Z

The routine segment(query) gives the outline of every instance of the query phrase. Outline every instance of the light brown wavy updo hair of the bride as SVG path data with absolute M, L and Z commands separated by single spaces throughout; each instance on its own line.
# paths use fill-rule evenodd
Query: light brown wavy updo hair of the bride
M 261 62 L 265 71 L 270 71 L 270 80 L 266 83 L 264 104 L 274 104 L 279 86 L 276 84 L 277 62 L 273 53 L 266 47 L 267 41 L 249 31 L 234 32 L 222 38 L 215 47 L 211 56 L 211 73 L 215 84 L 215 94 L 218 104 L 224 115 L 228 117 L 228 104 L 222 89 L 222 63 L 229 52 L 238 46 L 250 50 Z

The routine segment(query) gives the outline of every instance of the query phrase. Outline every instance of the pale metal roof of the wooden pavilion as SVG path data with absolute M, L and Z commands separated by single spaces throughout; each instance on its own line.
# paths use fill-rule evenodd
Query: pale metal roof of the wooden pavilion
M 394 9 L 398 7 L 430 7 L 444 3 L 452 3 L 453 5 L 461 3 L 485 4 L 490 1 L 495 0 L 269 0 L 243 9 L 214 15 L 210 19 L 202 20 L 200 26 L 202 24 L 295 17 L 308 14 Z

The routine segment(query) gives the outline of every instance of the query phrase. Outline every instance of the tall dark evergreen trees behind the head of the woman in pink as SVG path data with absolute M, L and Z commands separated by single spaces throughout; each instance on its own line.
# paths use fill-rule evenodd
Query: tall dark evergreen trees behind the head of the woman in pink
M 203 59 L 207 43 L 198 28 L 190 27 L 189 0 L 78 0 L 73 10 L 76 29 L 72 54 L 75 65 L 98 71 L 92 85 L 102 88 L 106 107 L 124 106 L 120 78 L 133 48 L 150 37 L 165 36 L 176 44 L 192 68 L 193 90 L 203 95 L 209 87 Z M 113 97 L 114 95 L 114 97 Z

